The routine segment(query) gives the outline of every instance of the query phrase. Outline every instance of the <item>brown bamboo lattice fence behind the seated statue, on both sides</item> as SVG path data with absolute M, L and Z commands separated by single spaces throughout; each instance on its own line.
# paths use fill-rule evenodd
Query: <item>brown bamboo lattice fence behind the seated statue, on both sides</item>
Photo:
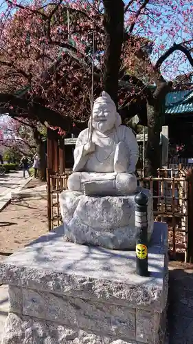
M 47 169 L 48 229 L 62 223 L 59 194 L 67 189 L 71 171 L 63 175 Z M 159 169 L 157 178 L 137 178 L 139 186 L 150 189 L 154 199 L 156 221 L 167 222 L 170 252 L 192 261 L 193 246 L 193 179 L 191 170 Z

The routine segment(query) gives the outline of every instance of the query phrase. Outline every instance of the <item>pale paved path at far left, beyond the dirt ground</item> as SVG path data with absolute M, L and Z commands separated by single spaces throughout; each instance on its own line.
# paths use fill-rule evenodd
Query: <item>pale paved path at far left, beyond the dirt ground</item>
M 23 171 L 0 175 L 0 211 L 10 201 L 12 193 L 20 191 L 30 178 L 23 178 Z

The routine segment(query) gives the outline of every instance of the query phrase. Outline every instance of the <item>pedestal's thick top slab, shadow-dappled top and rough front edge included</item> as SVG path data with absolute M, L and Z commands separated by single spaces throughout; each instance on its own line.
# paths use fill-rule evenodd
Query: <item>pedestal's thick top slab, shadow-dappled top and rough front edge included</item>
M 150 277 L 135 275 L 135 252 L 65 242 L 63 228 L 19 250 L 0 264 L 0 281 L 130 307 L 162 310 L 167 228 L 156 223 L 148 249 Z M 159 240 L 159 241 L 158 241 Z M 164 301 L 165 302 L 165 301 Z

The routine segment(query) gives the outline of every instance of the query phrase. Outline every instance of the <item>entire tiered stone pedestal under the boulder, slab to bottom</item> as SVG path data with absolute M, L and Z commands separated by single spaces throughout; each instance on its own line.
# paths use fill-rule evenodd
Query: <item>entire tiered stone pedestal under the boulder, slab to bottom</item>
M 2 261 L 10 294 L 3 344 L 162 344 L 167 237 L 155 224 L 150 277 L 135 274 L 135 252 L 65 242 L 62 226 Z

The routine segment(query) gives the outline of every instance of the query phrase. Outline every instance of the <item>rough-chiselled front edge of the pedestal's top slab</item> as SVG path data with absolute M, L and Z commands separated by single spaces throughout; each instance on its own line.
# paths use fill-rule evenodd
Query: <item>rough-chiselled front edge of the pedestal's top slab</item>
M 165 278 L 165 277 L 164 277 Z M 61 272 L 37 270 L 0 264 L 0 281 L 3 284 L 30 288 L 53 294 L 69 295 L 82 299 L 98 300 L 117 305 L 126 302 L 134 308 L 149 308 L 162 312 L 163 290 L 161 286 L 152 283 L 152 286 L 137 283 L 123 283 L 108 279 L 92 279 L 78 275 L 65 275 Z

